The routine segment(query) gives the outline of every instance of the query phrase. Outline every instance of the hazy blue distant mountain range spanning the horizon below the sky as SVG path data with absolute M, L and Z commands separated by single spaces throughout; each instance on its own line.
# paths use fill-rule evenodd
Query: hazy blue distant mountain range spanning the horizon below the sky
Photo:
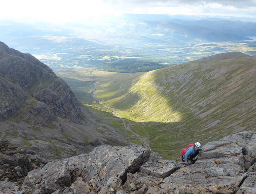
M 65 40 L 65 43 L 91 45 L 89 41 L 109 45 L 144 45 L 152 43 L 182 43 L 187 41 L 243 41 L 246 36 L 255 36 L 256 23 L 215 19 L 195 20 L 189 17 L 177 19 L 167 15 L 125 15 L 119 20 L 110 18 L 99 25 L 78 23 L 21 23 L 11 20 L 0 21 L 0 40 L 12 47 L 49 49 L 60 44 L 46 37 L 69 37 L 77 40 Z M 81 40 L 89 40 L 87 42 Z M 45 41 L 42 42 L 42 40 Z M 46 46 L 48 45 L 48 46 Z

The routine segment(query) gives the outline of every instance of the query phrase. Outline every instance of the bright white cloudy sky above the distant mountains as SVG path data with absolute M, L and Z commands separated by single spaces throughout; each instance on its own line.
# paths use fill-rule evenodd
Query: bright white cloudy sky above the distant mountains
M 1 2 L 0 20 L 79 22 L 124 13 L 252 17 L 256 0 L 12 0 Z

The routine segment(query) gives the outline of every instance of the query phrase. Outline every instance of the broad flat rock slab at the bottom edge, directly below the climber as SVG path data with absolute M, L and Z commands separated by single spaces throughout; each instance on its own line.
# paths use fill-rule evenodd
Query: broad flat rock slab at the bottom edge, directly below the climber
M 246 174 L 238 165 L 201 163 L 177 170 L 163 180 L 167 193 L 234 193 Z M 243 173 L 243 174 L 241 174 Z

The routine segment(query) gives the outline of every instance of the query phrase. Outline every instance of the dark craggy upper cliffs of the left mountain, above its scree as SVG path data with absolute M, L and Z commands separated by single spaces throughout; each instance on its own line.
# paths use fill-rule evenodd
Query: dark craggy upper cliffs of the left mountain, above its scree
M 34 124 L 45 125 L 56 116 L 75 123 L 81 120 L 79 101 L 64 80 L 32 55 L 9 48 L 2 42 L 0 99 L 0 120 L 19 114 L 19 110 L 23 110 L 22 120 L 35 120 Z

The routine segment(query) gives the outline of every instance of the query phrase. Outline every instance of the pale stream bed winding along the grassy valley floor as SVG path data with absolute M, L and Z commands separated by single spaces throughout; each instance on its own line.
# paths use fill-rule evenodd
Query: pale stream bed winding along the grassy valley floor
M 128 130 L 128 131 L 131 131 L 137 138 L 139 138 L 146 146 L 150 147 L 150 144 L 149 144 L 149 135 L 147 133 L 147 131 L 145 130 L 145 128 L 143 127 L 143 130 L 146 132 L 146 134 L 148 135 L 148 141 L 146 141 L 145 139 L 143 139 L 142 137 L 140 137 L 139 134 L 135 133 L 134 131 L 131 130 L 131 128 L 129 127 L 129 125 L 131 124 L 129 120 L 126 120 L 126 119 L 123 119 L 120 114 L 117 112 L 117 109 L 113 106 L 110 106 L 108 103 L 106 103 L 108 106 L 106 106 L 105 104 L 101 103 L 101 101 L 96 98 L 96 96 L 98 96 L 99 98 L 101 98 L 101 96 L 95 94 L 95 92 L 97 91 L 97 86 L 96 84 L 94 83 L 94 88 L 95 90 L 92 92 L 93 93 L 93 98 L 96 100 L 96 102 L 98 102 L 99 104 L 101 104 L 102 106 L 104 106 L 105 108 L 108 108 L 110 110 L 112 110 L 112 114 L 118 118 L 120 118 L 122 120 L 122 124 L 124 125 L 124 128 L 125 130 Z M 102 99 L 102 98 L 101 98 Z M 127 126 L 125 124 L 125 121 L 128 122 Z M 146 124 L 144 125 L 146 126 Z

